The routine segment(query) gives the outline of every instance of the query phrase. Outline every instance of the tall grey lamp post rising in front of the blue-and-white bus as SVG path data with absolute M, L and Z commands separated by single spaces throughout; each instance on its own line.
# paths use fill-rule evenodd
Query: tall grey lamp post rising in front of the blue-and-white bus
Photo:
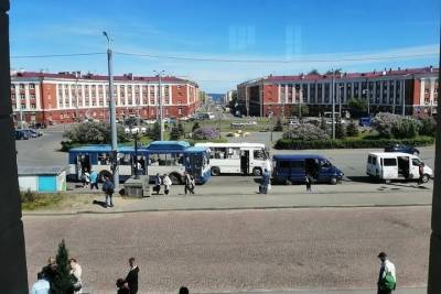
M 110 102 L 110 133 L 111 133 L 111 171 L 114 174 L 115 190 L 119 190 L 119 166 L 118 166 L 118 138 L 117 138 L 117 122 L 116 109 L 114 98 L 114 76 L 112 76 L 112 52 L 110 48 L 110 37 L 106 32 L 103 34 L 107 39 L 107 68 L 109 75 L 109 102 Z

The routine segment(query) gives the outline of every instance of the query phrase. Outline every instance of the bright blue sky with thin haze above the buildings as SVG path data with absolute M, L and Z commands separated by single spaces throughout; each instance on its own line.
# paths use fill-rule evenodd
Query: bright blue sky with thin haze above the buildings
M 13 0 L 9 12 L 11 67 L 107 74 L 103 31 L 112 39 L 115 74 L 151 76 L 153 70 L 164 70 L 195 80 L 207 92 L 226 92 L 270 74 L 295 75 L 313 68 L 438 67 L 440 3 Z M 25 57 L 76 53 L 101 54 Z

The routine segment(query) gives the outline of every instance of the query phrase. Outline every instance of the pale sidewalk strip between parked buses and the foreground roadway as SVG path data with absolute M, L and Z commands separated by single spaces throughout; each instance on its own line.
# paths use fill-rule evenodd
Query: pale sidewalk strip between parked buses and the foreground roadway
M 226 210 L 271 208 L 326 208 L 326 207 L 389 207 L 430 206 L 429 188 L 397 185 L 320 185 L 313 193 L 304 193 L 303 186 L 275 186 L 270 194 L 257 194 L 256 187 L 197 186 L 195 195 L 184 195 L 183 186 L 173 186 L 172 195 L 152 195 L 144 198 L 114 197 L 114 208 L 94 205 L 104 195 L 85 195 L 84 205 L 57 211 L 24 211 L 24 215 L 55 214 L 108 214 L 171 210 Z M 66 194 L 68 196 L 68 194 Z

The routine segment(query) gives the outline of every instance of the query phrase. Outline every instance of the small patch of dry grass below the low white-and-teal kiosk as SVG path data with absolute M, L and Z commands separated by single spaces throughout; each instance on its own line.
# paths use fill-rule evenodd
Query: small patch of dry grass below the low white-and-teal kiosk
M 60 193 L 36 193 L 36 192 L 21 192 L 21 208 L 23 210 L 37 210 L 57 207 L 62 200 L 63 195 Z

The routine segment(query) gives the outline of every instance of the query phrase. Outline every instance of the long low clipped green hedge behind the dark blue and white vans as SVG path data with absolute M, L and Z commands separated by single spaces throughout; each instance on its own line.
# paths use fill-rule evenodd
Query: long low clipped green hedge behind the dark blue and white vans
M 275 149 L 303 150 L 303 149 L 359 149 L 359 148 L 385 148 L 389 144 L 406 144 L 415 146 L 426 146 L 434 143 L 432 137 L 419 137 L 415 139 L 375 139 L 366 140 L 358 138 L 301 141 L 280 139 L 276 142 Z

